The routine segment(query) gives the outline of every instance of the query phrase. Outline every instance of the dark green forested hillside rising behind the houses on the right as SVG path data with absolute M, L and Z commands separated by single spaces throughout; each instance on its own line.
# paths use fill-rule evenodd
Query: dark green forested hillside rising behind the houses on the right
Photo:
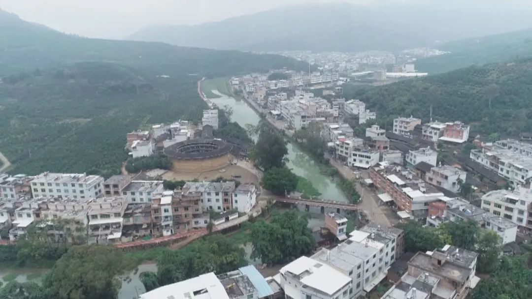
M 460 120 L 473 133 L 515 135 L 532 130 L 532 58 L 471 66 L 445 74 L 374 88 L 344 85 L 346 98 L 359 98 L 388 128 L 397 116 Z

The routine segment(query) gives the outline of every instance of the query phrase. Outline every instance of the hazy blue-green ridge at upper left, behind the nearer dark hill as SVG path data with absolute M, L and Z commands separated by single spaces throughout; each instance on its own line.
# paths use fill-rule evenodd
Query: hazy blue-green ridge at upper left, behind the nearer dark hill
M 121 64 L 156 74 L 210 76 L 307 67 L 303 62 L 278 55 L 66 35 L 0 10 L 0 75 L 79 62 Z

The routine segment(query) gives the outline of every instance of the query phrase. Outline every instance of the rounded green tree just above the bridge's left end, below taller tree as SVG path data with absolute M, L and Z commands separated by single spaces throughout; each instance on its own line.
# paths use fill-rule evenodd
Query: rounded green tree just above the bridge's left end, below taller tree
M 264 189 L 270 190 L 275 195 L 287 195 L 296 190 L 298 182 L 297 175 L 285 166 L 266 170 L 261 183 Z M 301 187 L 303 191 L 303 185 Z

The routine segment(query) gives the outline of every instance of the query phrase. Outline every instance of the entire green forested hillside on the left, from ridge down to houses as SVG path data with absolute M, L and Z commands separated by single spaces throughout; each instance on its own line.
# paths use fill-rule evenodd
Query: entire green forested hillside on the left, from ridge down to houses
M 203 76 L 280 67 L 306 65 L 276 55 L 80 38 L 0 11 L 0 151 L 13 173 L 109 176 L 127 158 L 127 132 L 201 119 L 206 104 L 196 82 Z

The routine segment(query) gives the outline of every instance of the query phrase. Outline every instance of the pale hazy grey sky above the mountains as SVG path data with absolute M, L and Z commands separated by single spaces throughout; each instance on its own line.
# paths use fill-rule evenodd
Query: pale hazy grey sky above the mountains
M 450 0 L 340 1 L 359 4 L 379 2 L 383 5 L 434 1 L 440 7 L 448 6 Z M 330 2 L 339 0 L 0 0 L 0 8 L 59 31 L 119 39 L 151 24 L 199 24 L 285 5 Z M 475 8 L 489 8 L 488 2 L 506 7 L 511 3 L 517 9 L 532 4 L 530 0 L 460 0 L 458 3 L 474 3 Z

